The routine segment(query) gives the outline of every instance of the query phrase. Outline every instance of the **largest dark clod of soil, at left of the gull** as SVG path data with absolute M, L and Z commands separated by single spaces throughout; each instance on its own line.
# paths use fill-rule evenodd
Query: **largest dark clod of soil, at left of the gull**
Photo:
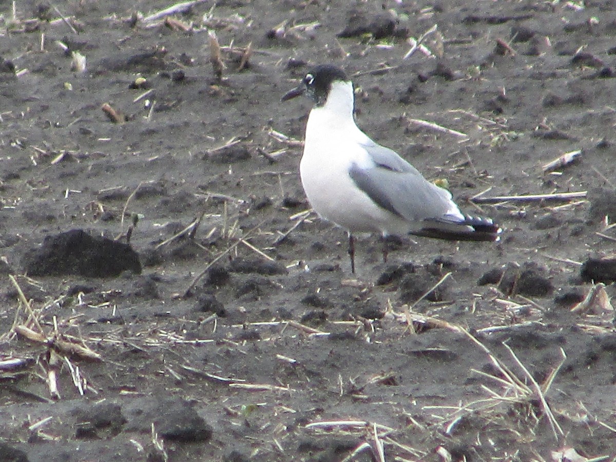
M 131 246 L 91 236 L 81 229 L 47 236 L 41 248 L 25 254 L 23 266 L 30 276 L 115 277 L 126 270 L 141 273 L 139 255 Z

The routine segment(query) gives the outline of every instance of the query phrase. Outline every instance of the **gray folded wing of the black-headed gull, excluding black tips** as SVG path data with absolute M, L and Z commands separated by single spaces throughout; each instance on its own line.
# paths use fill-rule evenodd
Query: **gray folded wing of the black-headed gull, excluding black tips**
M 379 206 L 409 221 L 456 221 L 448 216 L 452 195 L 426 180 L 410 163 L 389 148 L 364 146 L 375 161 L 372 168 L 353 165 L 349 176 Z

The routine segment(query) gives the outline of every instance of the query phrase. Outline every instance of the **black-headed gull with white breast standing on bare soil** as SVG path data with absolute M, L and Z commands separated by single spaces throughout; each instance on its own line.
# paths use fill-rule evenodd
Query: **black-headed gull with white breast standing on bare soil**
M 357 127 L 353 84 L 341 68 L 314 67 L 282 101 L 302 94 L 315 103 L 299 163 L 302 186 L 320 217 L 347 230 L 353 273 L 357 232 L 454 241 L 499 239 L 501 229 L 492 219 L 462 213 L 450 192 Z

